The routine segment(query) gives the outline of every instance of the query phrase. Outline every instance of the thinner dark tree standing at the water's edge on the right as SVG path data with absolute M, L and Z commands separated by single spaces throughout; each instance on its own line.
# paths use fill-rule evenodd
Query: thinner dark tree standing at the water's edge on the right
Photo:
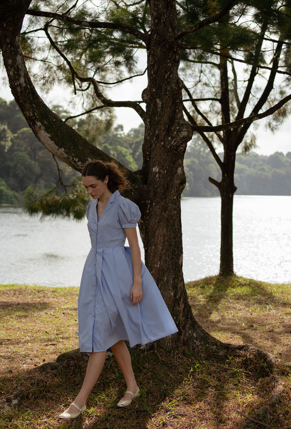
M 198 13 L 194 3 L 192 6 L 190 4 L 182 2 L 189 18 Z M 289 7 L 288 2 L 282 5 L 273 0 L 249 4 L 242 2 L 238 6 L 241 12 L 239 26 L 233 25 L 234 14 L 231 11 L 222 18 L 216 33 L 208 34 L 206 40 L 203 39 L 204 29 L 204 33 L 195 33 L 187 41 L 187 49 L 191 54 L 184 58 L 187 65 L 187 83 L 183 86 L 186 95 L 184 112 L 192 129 L 198 131 L 206 142 L 221 170 L 220 181 L 213 176 L 209 177 L 209 181 L 219 189 L 221 196 L 219 272 L 222 275 L 234 273 L 232 211 L 233 196 L 237 190 L 234 184 L 237 149 L 243 145 L 243 151 L 247 152 L 255 146 L 254 136 L 247 135 L 253 119 L 273 115 L 269 127 L 274 130 L 290 110 L 285 103 L 291 96 L 286 96 L 284 91 L 290 79 Z M 243 22 L 249 14 L 252 15 L 252 26 L 244 26 Z M 243 70 L 242 63 L 248 65 Z M 189 71 L 188 65 L 192 64 L 196 64 L 196 67 Z M 284 73 L 288 77 L 285 81 L 282 79 Z M 190 88 L 195 88 L 195 94 L 192 94 Z M 259 114 L 263 108 L 265 112 Z M 244 119 L 246 114 L 248 118 Z M 213 127 L 213 122 L 217 122 L 219 117 L 221 124 L 233 122 L 240 126 Z M 204 128 L 201 127 L 203 125 Z M 208 132 L 212 132 L 210 136 Z M 215 149 L 219 144 L 223 146 L 223 159 Z M 276 164 L 276 168 L 279 168 L 279 164 L 283 165 L 278 155 L 270 157 L 269 162 L 273 162 L 274 167 Z M 280 190 L 276 192 L 281 193 Z

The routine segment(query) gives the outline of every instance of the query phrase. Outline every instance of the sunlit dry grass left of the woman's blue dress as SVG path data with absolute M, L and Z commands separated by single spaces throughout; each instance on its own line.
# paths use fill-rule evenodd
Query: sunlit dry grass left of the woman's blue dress
M 0 286 L 0 374 L 78 348 L 78 288 Z

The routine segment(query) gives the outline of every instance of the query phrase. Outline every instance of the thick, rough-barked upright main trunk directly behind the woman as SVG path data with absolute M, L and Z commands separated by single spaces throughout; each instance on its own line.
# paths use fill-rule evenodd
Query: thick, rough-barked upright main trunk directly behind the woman
M 179 335 L 162 340 L 172 347 L 193 335 L 193 317 L 183 280 L 181 193 L 186 184 L 183 159 L 192 130 L 183 118 L 182 85 L 178 77 L 180 44 L 174 1 L 151 2 L 148 86 L 143 144 L 146 178 L 140 222 L 145 263 L 177 324 Z M 190 332 L 189 332 L 190 331 Z

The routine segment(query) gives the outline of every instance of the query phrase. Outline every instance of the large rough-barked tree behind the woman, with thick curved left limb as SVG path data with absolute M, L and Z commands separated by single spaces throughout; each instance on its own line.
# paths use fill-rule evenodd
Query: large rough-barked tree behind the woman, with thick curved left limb
M 141 208 L 139 228 L 146 265 L 179 329 L 178 335 L 163 342 L 169 348 L 181 341 L 198 348 L 217 347 L 218 341 L 193 317 L 183 281 L 180 196 L 186 183 L 183 158 L 192 128 L 183 116 L 183 82 L 178 76 L 178 67 L 184 47 L 182 40 L 187 41 L 187 37 L 207 26 L 210 32 L 215 31 L 215 23 L 225 16 L 235 1 L 215 3 L 214 9 L 204 7 L 208 3 L 202 1 L 199 16 L 191 25 L 188 18 L 181 18 L 183 8 L 179 7 L 177 12 L 174 0 L 124 2 L 122 6 L 110 1 L 101 17 L 85 6 L 77 8 L 78 2 L 67 1 L 60 5 L 46 2 L 44 6 L 35 1 L 33 9 L 28 9 L 30 3 L 30 0 L 9 0 L 3 3 L 0 12 L 3 63 L 12 94 L 27 123 L 51 153 L 77 171 L 81 171 L 89 158 L 112 160 L 55 115 L 37 94 L 24 54 L 27 59 L 33 58 L 31 35 L 41 31 L 46 35 L 52 53 L 52 57 L 43 59 L 43 63 L 48 71 L 53 67 L 51 60 L 57 64 L 54 79 L 63 76 L 66 82 L 72 82 L 75 94 L 78 91 L 83 94 L 86 89 L 92 91 L 89 98 L 95 106 L 91 109 L 129 107 L 143 120 L 141 169 L 132 172 L 116 162 L 130 181 L 125 195 Z M 40 10 L 40 6 L 45 10 Z M 107 21 L 100 21 L 103 17 Z M 132 72 L 135 66 L 133 53 L 137 48 L 147 49 L 148 85 L 142 93 L 146 110 L 141 107 L 141 101 L 109 100 L 100 86 L 104 83 L 102 76 L 108 72 L 108 62 L 106 66 L 104 60 L 111 58 L 117 74 L 124 71 L 122 64 L 127 72 Z M 70 59 L 72 52 L 75 56 Z M 33 69 L 30 74 L 33 76 Z M 46 73 L 46 76 L 48 79 L 51 75 Z M 117 80 L 121 81 L 121 76 Z M 282 104 L 286 101 L 283 99 Z M 218 129 L 231 129 L 259 117 L 255 115 L 234 124 L 223 124 Z M 204 127 L 201 130 L 204 131 Z M 226 344 L 220 344 L 220 347 L 231 348 Z

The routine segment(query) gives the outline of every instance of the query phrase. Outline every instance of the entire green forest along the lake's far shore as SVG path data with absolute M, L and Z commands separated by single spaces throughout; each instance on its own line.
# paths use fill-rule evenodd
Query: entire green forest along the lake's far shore
M 60 106 L 54 111 L 65 116 Z M 141 168 L 141 145 L 144 126 L 123 132 L 122 125 L 113 126 L 113 117 L 98 119 L 94 114 L 67 122 L 102 151 L 110 154 L 131 170 Z M 274 148 L 276 138 L 274 137 Z M 222 155 L 220 155 L 222 156 Z M 36 139 L 15 101 L 0 99 L 0 204 L 22 202 L 28 186 L 40 192 L 56 186 L 59 179 L 57 163 L 65 184 L 73 183 L 78 173 L 51 153 Z M 183 196 L 218 196 L 218 189 L 208 181 L 220 181 L 221 172 L 212 154 L 197 134 L 189 142 L 184 167 L 187 184 Z M 237 153 L 234 182 L 240 195 L 291 195 L 291 152 L 284 155 Z

